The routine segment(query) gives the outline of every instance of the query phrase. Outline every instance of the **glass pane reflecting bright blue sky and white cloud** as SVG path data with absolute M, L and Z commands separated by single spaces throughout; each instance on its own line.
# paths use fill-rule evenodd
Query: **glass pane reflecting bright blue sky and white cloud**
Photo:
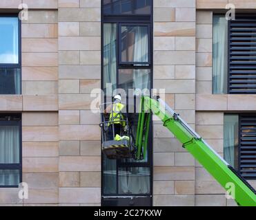
M 19 63 L 18 18 L 1 17 L 0 33 L 0 63 Z

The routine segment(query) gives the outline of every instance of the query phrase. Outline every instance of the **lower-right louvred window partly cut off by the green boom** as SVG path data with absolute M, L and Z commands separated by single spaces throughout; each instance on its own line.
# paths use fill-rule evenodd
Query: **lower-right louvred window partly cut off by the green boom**
M 256 179 L 256 115 L 224 115 L 224 159 L 246 179 Z

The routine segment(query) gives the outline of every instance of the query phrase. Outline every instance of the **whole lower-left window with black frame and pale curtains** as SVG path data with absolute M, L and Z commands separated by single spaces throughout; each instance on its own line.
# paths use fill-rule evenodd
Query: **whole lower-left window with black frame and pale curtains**
M 0 114 L 0 187 L 18 187 L 21 169 L 21 116 Z

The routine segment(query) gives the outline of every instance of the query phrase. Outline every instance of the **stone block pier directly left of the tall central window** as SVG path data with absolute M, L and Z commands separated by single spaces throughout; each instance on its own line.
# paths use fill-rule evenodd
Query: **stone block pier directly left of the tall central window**
M 99 114 L 90 91 L 101 87 L 101 1 L 59 1 L 59 203 L 101 203 Z

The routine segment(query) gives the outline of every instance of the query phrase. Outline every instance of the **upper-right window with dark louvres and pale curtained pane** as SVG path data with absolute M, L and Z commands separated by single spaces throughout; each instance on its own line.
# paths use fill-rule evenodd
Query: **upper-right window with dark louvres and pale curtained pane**
M 256 16 L 213 17 L 213 94 L 256 94 Z

